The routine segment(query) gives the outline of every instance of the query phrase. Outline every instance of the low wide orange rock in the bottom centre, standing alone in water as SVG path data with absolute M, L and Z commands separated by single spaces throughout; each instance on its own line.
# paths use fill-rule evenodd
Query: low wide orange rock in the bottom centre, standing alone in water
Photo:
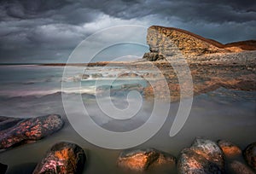
M 117 165 L 133 171 L 145 171 L 150 165 L 175 166 L 176 159 L 171 154 L 160 152 L 154 148 L 127 150 L 119 155 Z

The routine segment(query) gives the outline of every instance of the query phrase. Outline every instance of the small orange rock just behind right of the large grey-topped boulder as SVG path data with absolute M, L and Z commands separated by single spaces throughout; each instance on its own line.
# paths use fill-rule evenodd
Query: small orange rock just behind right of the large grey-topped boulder
M 232 142 L 220 140 L 218 141 L 218 146 L 222 149 L 224 155 L 228 158 L 232 158 L 241 154 L 241 149 Z

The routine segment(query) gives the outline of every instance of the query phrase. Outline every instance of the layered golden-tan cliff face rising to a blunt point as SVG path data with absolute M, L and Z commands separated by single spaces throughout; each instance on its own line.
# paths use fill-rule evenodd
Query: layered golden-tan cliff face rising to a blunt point
M 241 52 L 243 50 L 237 45 L 221 44 L 192 32 L 164 26 L 148 28 L 147 44 L 150 52 L 145 53 L 143 58 L 148 61 L 173 59 L 180 56 L 193 58 L 198 55 Z

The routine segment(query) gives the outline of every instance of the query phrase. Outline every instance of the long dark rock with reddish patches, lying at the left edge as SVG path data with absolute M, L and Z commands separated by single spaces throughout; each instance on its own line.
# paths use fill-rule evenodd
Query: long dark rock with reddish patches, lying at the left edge
M 14 119 L 14 118 L 10 118 Z M 36 141 L 61 129 L 64 121 L 60 115 L 49 114 L 37 118 L 20 119 L 0 131 L 0 149 L 10 148 L 22 142 Z

